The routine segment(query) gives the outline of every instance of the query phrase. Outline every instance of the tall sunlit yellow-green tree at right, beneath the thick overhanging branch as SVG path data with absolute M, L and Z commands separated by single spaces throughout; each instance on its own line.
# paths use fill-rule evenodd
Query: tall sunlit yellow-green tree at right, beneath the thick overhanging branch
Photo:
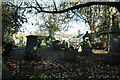
M 72 12 L 78 16 L 77 18 L 82 19 L 85 23 L 89 24 L 92 34 L 91 44 L 94 44 L 94 39 L 97 37 L 103 43 L 103 46 L 108 48 L 109 36 L 107 32 L 112 26 L 111 16 L 114 13 L 113 10 L 117 11 L 114 7 L 93 5 L 72 10 Z

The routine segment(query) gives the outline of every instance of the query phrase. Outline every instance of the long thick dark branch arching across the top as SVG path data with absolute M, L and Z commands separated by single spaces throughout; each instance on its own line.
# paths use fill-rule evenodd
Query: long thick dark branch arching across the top
M 111 6 L 111 7 L 116 7 L 120 11 L 120 7 L 118 6 L 120 2 L 87 2 L 85 4 L 75 5 L 73 7 L 63 9 L 63 10 L 60 10 L 60 11 L 57 11 L 57 8 L 56 8 L 56 11 L 43 10 L 43 8 L 45 8 L 45 7 L 40 7 L 40 5 L 37 1 L 36 1 L 36 3 L 38 5 L 38 7 L 30 6 L 30 7 L 19 7 L 19 8 L 35 8 L 39 13 L 40 12 L 44 12 L 44 13 L 64 13 L 64 12 L 68 12 L 70 10 L 75 10 L 75 9 L 79 9 L 79 8 L 82 8 L 82 7 L 89 7 L 89 6 L 92 6 L 92 5 L 108 5 L 108 6 Z

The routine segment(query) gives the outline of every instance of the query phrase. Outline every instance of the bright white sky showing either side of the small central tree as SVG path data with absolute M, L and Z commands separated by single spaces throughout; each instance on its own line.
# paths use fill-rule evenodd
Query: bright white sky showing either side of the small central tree
M 37 27 L 38 26 L 34 26 L 31 24 L 31 22 L 35 22 L 33 19 L 29 19 L 28 20 L 28 23 L 24 23 L 23 24 L 23 28 L 25 29 L 25 34 L 26 35 L 30 35 L 30 32 L 34 32 L 37 30 Z M 77 35 L 78 34 L 78 30 L 81 31 L 81 33 L 85 33 L 86 31 L 90 31 L 89 30 L 89 26 L 87 24 L 85 24 L 84 22 L 71 22 L 71 28 L 68 28 L 68 31 L 61 31 L 63 32 L 64 34 L 72 34 L 72 35 Z M 21 29 L 23 29 L 21 28 Z M 61 34 L 60 32 L 60 34 Z

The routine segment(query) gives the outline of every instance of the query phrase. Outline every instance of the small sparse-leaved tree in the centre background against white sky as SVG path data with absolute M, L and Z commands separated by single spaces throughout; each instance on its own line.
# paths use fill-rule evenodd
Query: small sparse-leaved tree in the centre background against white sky
M 50 37 L 54 37 L 55 32 L 61 30 L 67 30 L 69 27 L 70 19 L 66 14 L 41 14 L 40 20 L 43 21 L 40 24 L 40 29 L 48 31 Z M 65 25 L 66 24 L 66 25 Z

